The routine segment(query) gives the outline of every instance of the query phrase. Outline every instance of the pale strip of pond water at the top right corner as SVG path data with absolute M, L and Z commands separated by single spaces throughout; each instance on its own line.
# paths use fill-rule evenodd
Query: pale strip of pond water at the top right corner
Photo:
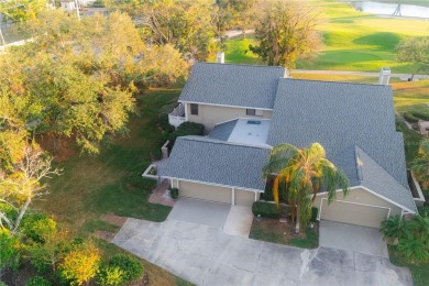
M 352 4 L 358 11 L 372 14 L 429 19 L 429 7 L 378 3 L 374 1 L 355 1 Z

